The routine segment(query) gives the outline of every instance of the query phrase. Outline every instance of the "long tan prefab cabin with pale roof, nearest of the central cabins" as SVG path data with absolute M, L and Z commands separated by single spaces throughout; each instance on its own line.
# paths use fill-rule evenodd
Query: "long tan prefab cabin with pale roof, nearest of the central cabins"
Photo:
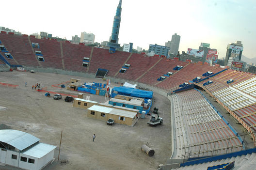
M 123 110 L 118 108 L 109 108 L 94 105 L 88 108 L 87 117 L 107 121 L 112 118 L 117 124 L 126 124 L 133 126 L 136 123 L 137 113 L 134 111 Z

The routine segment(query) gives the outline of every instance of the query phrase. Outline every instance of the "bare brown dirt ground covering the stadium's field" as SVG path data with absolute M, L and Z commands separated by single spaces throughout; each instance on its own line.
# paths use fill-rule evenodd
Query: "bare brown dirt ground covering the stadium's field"
M 104 121 L 87 118 L 86 110 L 73 108 L 72 103 L 64 102 L 64 96 L 61 100 L 53 100 L 52 97 L 45 97 L 45 93 L 31 89 L 38 82 L 47 87 L 48 91 L 78 94 L 51 87 L 70 78 L 106 83 L 101 79 L 49 73 L 0 72 L 0 82 L 19 85 L 16 89 L 0 86 L 0 107 L 7 107 L 0 110 L 0 124 L 30 133 L 43 143 L 57 146 L 56 159 L 45 170 L 156 170 L 157 165 L 166 163 L 166 159 L 171 156 L 172 146 L 170 101 L 165 96 L 157 93 L 153 95 L 152 108 L 159 108 L 162 125 L 148 126 L 150 116 L 147 116 L 139 119 L 133 127 L 121 124 L 110 126 Z M 27 87 L 25 82 L 28 82 Z M 85 95 L 90 95 L 90 100 L 104 102 L 103 96 Z M 62 130 L 60 159 L 68 160 L 67 163 L 57 161 Z M 92 141 L 94 133 L 95 142 Z M 152 157 L 140 149 L 146 142 L 155 150 Z M 15 168 L 0 166 L 0 169 Z

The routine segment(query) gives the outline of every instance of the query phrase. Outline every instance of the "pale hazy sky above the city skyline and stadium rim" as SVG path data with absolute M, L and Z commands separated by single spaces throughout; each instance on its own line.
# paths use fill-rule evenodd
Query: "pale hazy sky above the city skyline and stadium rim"
M 10 4 L 11 3 L 11 4 Z M 12 0 L 1 4 L 0 26 L 24 34 L 96 35 L 108 41 L 119 0 Z M 209 43 L 225 56 L 228 43 L 242 41 L 243 55 L 256 57 L 256 0 L 123 0 L 119 44 L 165 45 L 181 36 L 179 51 Z

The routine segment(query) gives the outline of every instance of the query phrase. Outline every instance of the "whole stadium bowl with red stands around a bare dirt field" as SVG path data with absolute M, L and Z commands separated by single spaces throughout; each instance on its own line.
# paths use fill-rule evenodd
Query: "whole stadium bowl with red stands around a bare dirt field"
M 255 168 L 255 74 L 5 31 L 0 71 L 0 130 L 23 131 L 57 146 L 54 158 L 60 161 L 46 170 Z M 137 84 L 153 92 L 149 112 L 159 108 L 163 124 L 149 126 L 146 114 L 133 126 L 108 126 L 89 118 L 87 110 L 45 97 L 45 92 L 78 97 L 80 91 L 61 88 L 70 78 L 102 84 L 110 79 L 112 89 Z M 35 83 L 42 88 L 31 89 Z M 105 102 L 104 96 L 84 95 Z M 155 155 L 141 151 L 146 143 Z

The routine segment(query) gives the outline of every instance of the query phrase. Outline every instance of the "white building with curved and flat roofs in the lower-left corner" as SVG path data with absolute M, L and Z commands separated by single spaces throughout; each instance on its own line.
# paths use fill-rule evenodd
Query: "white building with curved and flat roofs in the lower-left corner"
M 0 163 L 24 170 L 41 170 L 52 159 L 56 146 L 18 130 L 0 130 Z

